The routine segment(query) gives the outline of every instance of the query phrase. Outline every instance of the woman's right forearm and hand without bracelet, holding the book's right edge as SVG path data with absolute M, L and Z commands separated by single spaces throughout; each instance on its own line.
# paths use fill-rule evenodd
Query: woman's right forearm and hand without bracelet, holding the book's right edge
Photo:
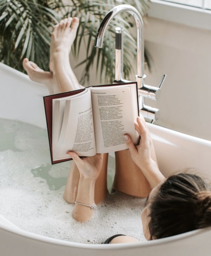
M 160 172 L 158 165 L 152 159 L 151 145 L 152 140 L 147 134 L 141 118 L 137 118 L 135 129 L 141 136 L 139 145 L 135 146 L 128 134 L 124 135 L 125 142 L 128 145 L 131 157 L 136 165 L 141 169 L 152 188 L 156 187 L 160 182 L 165 181 L 165 177 Z

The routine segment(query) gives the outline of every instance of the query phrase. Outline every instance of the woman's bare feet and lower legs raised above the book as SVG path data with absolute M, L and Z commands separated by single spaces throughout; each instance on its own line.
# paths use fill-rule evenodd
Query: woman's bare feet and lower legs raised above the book
M 29 61 L 27 58 L 23 60 L 23 66 L 30 79 L 37 83 L 44 84 L 49 88 L 50 93 L 84 88 L 78 83 L 69 61 L 71 45 L 75 39 L 77 28 L 77 18 L 62 20 L 55 26 L 51 36 L 50 72 L 39 68 L 34 62 Z M 55 68 L 57 68 L 57 70 Z

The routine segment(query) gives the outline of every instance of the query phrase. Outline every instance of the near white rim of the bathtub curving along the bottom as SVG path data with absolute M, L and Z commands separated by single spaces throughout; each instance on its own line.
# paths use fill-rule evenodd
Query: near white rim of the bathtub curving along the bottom
M 206 233 L 211 231 L 211 227 L 201 228 L 193 231 L 189 231 L 186 233 L 178 234 L 171 237 L 165 237 L 145 242 L 139 242 L 139 243 L 123 243 L 123 244 L 84 244 L 84 243 L 77 243 L 77 242 L 71 242 L 66 240 L 61 240 L 57 238 L 51 238 L 47 236 L 43 236 L 40 234 L 36 234 L 33 232 L 22 230 L 21 228 L 15 226 L 13 223 L 8 221 L 6 218 L 2 217 L 0 215 L 1 220 L 6 221 L 6 224 L 2 226 L 2 223 L 0 223 L 0 230 L 4 230 L 9 233 L 16 234 L 17 236 L 21 236 L 26 239 L 36 240 L 41 243 L 47 243 L 47 244 L 53 244 L 53 245 L 60 245 L 65 247 L 71 247 L 71 248 L 79 248 L 79 249 L 90 249 L 90 250 L 115 250 L 115 249 L 131 249 L 131 248 L 140 248 L 140 247 L 148 247 L 148 246 L 156 246 L 156 245 L 165 245 L 172 242 L 178 242 L 180 240 L 184 240 L 185 238 L 191 238 L 194 236 L 197 236 L 201 233 Z

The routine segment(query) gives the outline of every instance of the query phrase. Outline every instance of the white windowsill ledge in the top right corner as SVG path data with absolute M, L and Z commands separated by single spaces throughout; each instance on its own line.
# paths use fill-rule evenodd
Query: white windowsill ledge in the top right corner
M 151 0 L 149 17 L 211 30 L 211 11 L 197 7 Z

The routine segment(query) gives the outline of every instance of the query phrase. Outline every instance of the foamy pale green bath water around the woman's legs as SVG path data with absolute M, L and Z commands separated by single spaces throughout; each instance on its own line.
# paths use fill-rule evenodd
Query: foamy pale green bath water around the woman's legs
M 70 164 L 51 165 L 45 129 L 0 119 L 0 215 L 23 230 L 71 242 L 100 244 L 119 233 L 145 240 L 145 199 L 116 192 L 86 223 L 72 218 L 73 205 L 63 199 Z M 114 169 L 109 157 L 110 187 Z

